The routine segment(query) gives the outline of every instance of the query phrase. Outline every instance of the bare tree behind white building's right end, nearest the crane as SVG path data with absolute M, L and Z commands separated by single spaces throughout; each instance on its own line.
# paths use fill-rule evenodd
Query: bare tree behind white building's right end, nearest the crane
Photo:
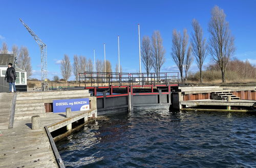
M 27 78 L 32 75 L 31 58 L 27 47 L 21 47 L 17 57 L 17 67 L 27 71 Z

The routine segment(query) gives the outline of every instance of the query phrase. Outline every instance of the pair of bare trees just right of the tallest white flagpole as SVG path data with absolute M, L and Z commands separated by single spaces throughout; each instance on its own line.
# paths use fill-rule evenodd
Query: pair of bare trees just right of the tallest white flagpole
M 151 39 L 148 36 L 142 38 L 141 57 L 147 77 L 152 69 L 159 76 L 161 67 L 165 62 L 165 49 L 159 31 L 154 31 Z

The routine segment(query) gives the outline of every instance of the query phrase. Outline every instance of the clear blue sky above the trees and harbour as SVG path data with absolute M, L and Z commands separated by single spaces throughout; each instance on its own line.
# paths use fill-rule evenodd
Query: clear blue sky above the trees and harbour
M 236 57 L 256 65 L 256 1 L 2 1 L 0 2 L 0 43 L 27 46 L 33 77 L 40 78 L 40 50 L 27 32 L 22 18 L 47 44 L 49 78 L 60 74 L 59 60 L 68 54 L 106 59 L 114 71 L 118 62 L 117 35 L 120 36 L 120 64 L 124 72 L 139 69 L 138 26 L 141 39 L 159 30 L 166 50 L 162 71 L 177 71 L 170 57 L 172 31 L 184 28 L 191 34 L 191 21 L 196 18 L 207 38 L 210 10 L 218 5 L 224 9 L 232 34 L 236 38 Z M 205 65 L 209 63 L 207 58 Z M 191 71 L 196 71 L 194 63 Z M 144 71 L 144 69 L 143 69 Z M 73 77 L 72 77 L 73 78 Z

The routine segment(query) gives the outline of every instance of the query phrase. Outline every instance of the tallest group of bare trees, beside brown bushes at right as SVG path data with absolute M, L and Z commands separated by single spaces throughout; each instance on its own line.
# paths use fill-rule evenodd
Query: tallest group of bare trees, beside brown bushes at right
M 219 66 L 222 73 L 222 81 L 225 82 L 225 71 L 227 64 L 234 54 L 234 37 L 229 30 L 229 24 L 226 21 L 226 15 L 223 9 L 215 6 L 211 10 L 211 19 L 208 24 L 210 34 L 208 43 L 203 36 L 203 30 L 199 22 L 192 21 L 193 33 L 191 34 L 190 44 L 188 44 L 187 30 L 183 30 L 183 35 L 176 30 L 173 31 L 172 58 L 177 65 L 181 80 L 186 81 L 187 72 L 194 58 L 191 57 L 191 51 L 196 58 L 196 63 L 200 72 L 200 82 L 202 82 L 202 67 L 207 53 L 211 56 L 215 64 Z M 183 71 L 185 77 L 183 77 Z

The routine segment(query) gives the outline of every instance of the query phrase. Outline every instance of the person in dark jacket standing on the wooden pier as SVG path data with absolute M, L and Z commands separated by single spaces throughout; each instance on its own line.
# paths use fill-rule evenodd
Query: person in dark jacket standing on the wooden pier
M 6 79 L 7 79 L 7 82 L 9 83 L 8 93 L 12 92 L 12 87 L 13 87 L 13 91 L 16 92 L 16 87 L 15 87 L 16 72 L 15 72 L 15 69 L 12 67 L 12 63 L 8 64 L 8 68 L 5 74 L 5 80 Z

